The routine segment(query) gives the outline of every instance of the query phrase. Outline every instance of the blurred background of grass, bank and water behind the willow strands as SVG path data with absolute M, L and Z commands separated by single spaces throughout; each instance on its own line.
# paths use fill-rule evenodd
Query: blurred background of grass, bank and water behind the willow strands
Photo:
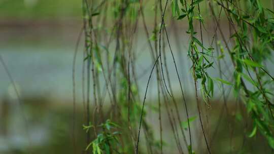
M 72 153 L 72 66 L 73 55 L 76 42 L 82 26 L 82 1 L 76 0 L 0 0 L 0 54 L 9 69 L 14 83 L 20 95 L 20 100 L 16 95 L 13 83 L 3 65 L 0 65 L 0 153 L 26 153 L 31 141 L 31 148 L 36 153 Z M 269 3 L 264 1 L 265 5 Z M 148 25 L 150 25 L 150 15 L 152 4 L 145 7 Z M 167 17 L 171 19 L 171 16 Z M 210 17 L 206 17 L 210 18 Z M 169 25 L 172 22 L 168 22 Z M 170 40 L 176 44 L 173 35 L 173 27 L 167 24 Z M 149 27 L 152 31 L 152 26 Z M 179 28 L 186 29 L 185 23 L 180 23 Z M 223 23 L 223 26 L 227 26 Z M 141 30 L 138 33 L 138 44 L 136 52 L 139 52 L 137 73 L 142 95 L 149 69 L 152 61 L 149 57 L 149 48 L 146 43 L 145 33 Z M 213 30 L 214 26 L 211 27 Z M 209 30 L 209 33 L 210 30 Z M 175 50 L 186 49 L 188 36 L 185 30 L 180 31 L 180 46 L 177 44 Z M 205 35 L 205 38 L 210 36 Z M 83 51 L 83 42 L 80 43 L 79 51 Z M 185 52 L 186 53 L 186 52 Z M 190 105 L 190 114 L 195 115 L 196 106 L 193 100 L 193 81 L 190 73 L 190 60 L 187 54 L 178 55 L 180 74 L 184 83 L 187 98 L 193 105 Z M 172 63 L 171 58 L 167 61 Z M 77 93 L 77 149 L 85 149 L 85 131 L 82 129 L 83 110 L 81 103 L 81 67 L 83 55 L 79 54 L 76 63 Z M 168 65 L 170 74 L 175 74 L 174 67 Z M 215 70 L 211 70 L 217 74 Z M 270 70 L 273 72 L 273 70 Z M 176 75 L 171 77 L 172 85 L 179 90 Z M 216 89 L 218 93 L 218 88 Z M 149 95 L 148 121 L 153 124 L 157 120 L 157 113 L 153 111 L 154 100 L 156 98 L 156 84 L 152 83 Z M 178 91 L 180 94 L 180 91 Z M 178 97 L 180 101 L 180 97 Z M 193 101 L 192 101 L 193 100 Z M 191 104 L 191 103 L 190 103 Z M 215 128 L 222 110 L 220 98 L 214 99 L 209 118 L 211 121 L 208 128 Z M 213 151 L 217 153 L 229 153 L 232 148 L 240 148 L 243 142 L 243 132 L 252 130 L 242 130 L 243 117 L 233 111 L 237 103 L 231 97 L 229 108 L 231 113 L 224 118 L 220 124 L 218 134 L 212 142 Z M 180 106 L 182 107 L 182 106 Z M 183 109 L 180 110 L 182 116 Z M 206 111 L 205 111 L 206 112 Z M 231 119 L 235 122 L 231 122 Z M 164 125 L 169 125 L 167 118 L 163 119 Z M 196 120 L 197 121 L 197 120 Z M 196 125 L 195 125 L 196 124 Z M 193 124 L 199 132 L 198 121 Z M 249 122 L 245 123 L 249 124 Z M 226 132 L 226 127 L 234 128 L 234 132 Z M 154 127 L 152 125 L 152 127 Z M 247 127 L 249 128 L 249 127 Z M 26 131 L 28 129 L 28 131 Z M 170 153 L 174 151 L 175 143 L 170 137 L 170 128 L 164 128 L 165 149 Z M 154 130 L 158 131 L 155 126 Z M 27 133 L 28 132 L 28 133 Z M 231 138 L 231 134 L 233 137 Z M 157 137 L 157 133 L 155 133 Z M 194 134 L 196 148 L 205 149 L 202 142 L 201 133 Z M 246 153 L 270 153 L 261 137 L 246 143 Z M 225 146 L 231 145 L 231 146 Z M 267 148 L 266 148 L 267 147 Z M 263 152 L 262 152 L 263 151 Z

